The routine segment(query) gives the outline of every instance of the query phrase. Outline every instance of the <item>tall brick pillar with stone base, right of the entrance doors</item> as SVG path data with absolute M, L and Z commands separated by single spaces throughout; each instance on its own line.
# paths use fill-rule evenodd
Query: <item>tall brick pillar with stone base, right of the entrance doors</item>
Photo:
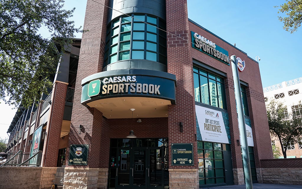
M 169 105 L 169 152 L 171 143 L 194 144 L 194 166 L 171 166 L 169 154 L 169 186 L 199 188 L 194 99 L 193 62 L 186 0 L 166 1 L 168 72 L 176 75 L 176 105 Z M 189 42 L 188 42 L 188 41 Z M 179 131 L 183 122 L 183 132 Z

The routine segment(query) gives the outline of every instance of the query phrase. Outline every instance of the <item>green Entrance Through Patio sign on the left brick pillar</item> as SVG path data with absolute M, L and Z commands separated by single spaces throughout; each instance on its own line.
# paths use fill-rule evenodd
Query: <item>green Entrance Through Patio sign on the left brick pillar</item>
M 87 165 L 89 145 L 70 145 L 68 165 Z

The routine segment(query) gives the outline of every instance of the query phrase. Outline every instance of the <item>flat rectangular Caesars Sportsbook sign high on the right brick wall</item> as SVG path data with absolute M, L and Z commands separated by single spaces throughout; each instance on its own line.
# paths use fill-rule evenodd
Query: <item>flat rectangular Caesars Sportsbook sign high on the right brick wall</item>
M 229 52 L 219 47 L 215 42 L 207 39 L 198 33 L 191 31 L 192 36 L 192 47 L 201 51 L 211 57 L 214 57 L 221 62 L 230 65 Z

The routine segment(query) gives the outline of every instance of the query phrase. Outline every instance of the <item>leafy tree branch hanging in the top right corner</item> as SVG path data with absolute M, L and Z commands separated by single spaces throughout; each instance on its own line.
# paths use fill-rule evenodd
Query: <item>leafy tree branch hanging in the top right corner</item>
M 287 3 L 280 5 L 278 13 L 285 13 L 287 17 L 278 16 L 279 21 L 284 23 L 283 29 L 294 33 L 302 22 L 302 0 L 285 0 Z M 279 7 L 279 6 L 275 6 Z

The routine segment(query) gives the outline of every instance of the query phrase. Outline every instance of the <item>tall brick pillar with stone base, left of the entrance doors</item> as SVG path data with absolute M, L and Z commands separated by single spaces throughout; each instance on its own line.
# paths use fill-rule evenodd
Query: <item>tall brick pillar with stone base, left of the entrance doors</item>
M 99 2 L 99 3 L 98 3 Z M 86 108 L 81 104 L 81 81 L 87 76 L 101 72 L 103 69 L 104 49 L 107 30 L 109 0 L 88 0 L 85 13 L 79 65 L 74 93 L 74 101 L 69 133 L 69 147 L 72 144 L 88 144 L 87 166 L 69 166 L 69 148 L 66 152 L 66 168 L 64 188 L 107 188 L 107 179 L 99 179 L 101 157 L 102 113 L 94 108 Z M 79 134 L 79 125 L 84 129 Z M 104 168 L 107 168 L 108 165 Z M 104 173 L 105 174 L 105 173 Z M 85 182 L 84 182 L 85 181 Z

